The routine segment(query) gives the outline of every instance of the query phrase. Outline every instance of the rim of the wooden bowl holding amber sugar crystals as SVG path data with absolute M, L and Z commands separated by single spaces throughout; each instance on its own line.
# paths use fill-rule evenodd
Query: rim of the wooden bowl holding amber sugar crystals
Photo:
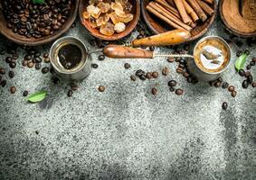
M 83 27 L 90 33 L 90 35 L 94 36 L 95 38 L 98 38 L 100 40 L 120 40 L 126 36 L 128 36 L 128 34 L 133 31 L 136 26 L 137 26 L 137 23 L 138 23 L 138 20 L 139 20 L 139 17 L 140 17 L 140 0 L 134 0 L 136 2 L 136 14 L 135 14 L 135 19 L 128 23 L 128 28 L 121 32 L 121 33 L 115 33 L 113 34 L 112 36 L 106 36 L 104 34 L 95 34 L 94 32 L 90 31 L 87 25 L 87 23 L 84 23 L 84 18 L 82 17 L 82 13 L 84 11 L 84 8 L 82 7 L 82 3 L 83 1 L 86 1 L 86 0 L 81 0 L 80 2 L 80 6 L 79 6 L 79 16 L 80 16 L 80 21 L 81 21 L 81 24 L 83 25 Z

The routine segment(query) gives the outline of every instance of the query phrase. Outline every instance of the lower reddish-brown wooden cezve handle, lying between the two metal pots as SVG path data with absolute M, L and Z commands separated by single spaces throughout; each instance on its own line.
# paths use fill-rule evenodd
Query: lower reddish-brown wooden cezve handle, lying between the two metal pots
M 109 58 L 153 58 L 152 51 L 119 45 L 106 46 L 103 49 L 103 54 Z

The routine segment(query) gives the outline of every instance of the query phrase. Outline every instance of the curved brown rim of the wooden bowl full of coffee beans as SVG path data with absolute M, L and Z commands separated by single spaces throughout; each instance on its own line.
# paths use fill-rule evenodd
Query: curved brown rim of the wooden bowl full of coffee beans
M 43 45 L 48 42 L 51 42 L 52 40 L 56 40 L 59 37 L 61 37 L 63 33 L 65 33 L 66 31 L 68 31 L 71 28 L 72 23 L 74 23 L 74 21 L 76 19 L 80 0 L 74 0 L 74 1 L 75 1 L 74 11 L 71 13 L 71 16 L 68 18 L 67 22 L 64 23 L 64 25 L 62 26 L 62 29 L 60 29 L 59 31 L 56 31 L 52 35 L 42 37 L 42 40 L 37 40 L 35 38 L 28 39 L 28 38 L 25 38 L 24 36 L 22 36 L 24 38 L 24 40 L 17 39 L 17 38 L 15 38 L 15 33 L 13 31 L 10 31 L 10 34 L 13 34 L 12 36 L 10 36 L 8 33 L 5 33 L 6 31 L 4 31 L 4 27 L 0 27 L 0 33 L 2 33 L 8 40 L 12 40 L 17 44 L 21 44 L 21 45 L 25 45 L 25 46 L 38 46 L 38 45 Z M 2 13 L 0 13 L 0 14 L 2 14 Z M 5 28 L 7 28 L 7 27 L 5 27 Z

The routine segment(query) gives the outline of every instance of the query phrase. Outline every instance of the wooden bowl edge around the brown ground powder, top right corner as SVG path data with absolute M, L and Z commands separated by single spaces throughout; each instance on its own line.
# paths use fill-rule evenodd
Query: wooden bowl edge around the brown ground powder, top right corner
M 245 33 L 245 32 L 238 31 L 238 30 L 232 28 L 232 26 L 224 18 L 224 15 L 223 15 L 223 2 L 224 2 L 224 0 L 220 0 L 219 1 L 219 12 L 221 14 L 221 18 L 223 20 L 223 23 L 225 25 L 226 30 L 228 30 L 231 33 L 233 33 L 234 35 L 240 36 L 242 38 L 253 38 L 253 37 L 256 37 L 256 31 L 253 31 L 251 33 Z

